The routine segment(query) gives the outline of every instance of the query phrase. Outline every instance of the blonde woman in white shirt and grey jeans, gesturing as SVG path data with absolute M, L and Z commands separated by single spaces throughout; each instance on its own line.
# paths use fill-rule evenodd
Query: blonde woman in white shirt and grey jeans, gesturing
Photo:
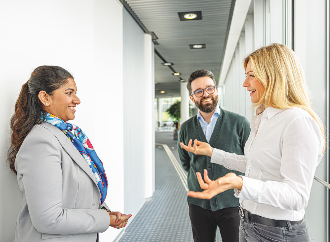
M 210 180 L 197 172 L 201 189 L 188 196 L 210 199 L 228 189 L 240 198 L 240 241 L 310 241 L 304 220 L 316 166 L 324 151 L 324 132 L 314 113 L 301 64 L 281 44 L 252 52 L 244 60 L 243 83 L 255 116 L 244 156 L 194 140 L 183 149 L 211 156 L 211 162 L 245 172 Z

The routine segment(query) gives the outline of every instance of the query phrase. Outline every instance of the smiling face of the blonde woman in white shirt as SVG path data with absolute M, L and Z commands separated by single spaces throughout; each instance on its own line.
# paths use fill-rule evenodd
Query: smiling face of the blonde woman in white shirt
M 260 98 L 265 92 L 265 87 L 259 82 L 252 71 L 251 68 L 251 61 L 248 61 L 247 68 L 245 71 L 247 78 L 245 79 L 243 86 L 247 87 L 248 91 L 250 92 L 251 102 L 257 103 L 259 102 Z

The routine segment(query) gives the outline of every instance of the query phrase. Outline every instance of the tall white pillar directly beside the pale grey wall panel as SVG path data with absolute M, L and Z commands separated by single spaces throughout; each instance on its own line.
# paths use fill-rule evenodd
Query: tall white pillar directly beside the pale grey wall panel
M 144 42 L 144 66 L 145 66 L 145 86 L 149 91 L 144 94 L 144 101 L 146 112 L 145 116 L 145 135 L 144 149 L 145 149 L 145 197 L 151 197 L 155 190 L 155 156 L 153 151 L 155 149 L 155 115 L 154 115 L 154 98 L 155 98 L 155 84 L 153 76 L 153 45 L 151 35 L 145 34 Z

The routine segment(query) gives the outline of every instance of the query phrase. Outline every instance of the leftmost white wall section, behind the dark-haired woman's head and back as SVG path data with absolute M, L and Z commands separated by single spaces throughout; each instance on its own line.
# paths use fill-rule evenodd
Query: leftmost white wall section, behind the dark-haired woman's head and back
M 38 7 L 36 7 L 38 6 Z M 66 6 L 63 8 L 63 6 Z M 16 176 L 6 169 L 9 147 L 9 119 L 21 85 L 33 69 L 40 65 L 59 65 L 74 75 L 82 106 L 77 116 L 93 101 L 88 102 L 86 85 L 94 76 L 93 56 L 93 1 L 1 1 L 0 5 L 1 57 L 1 188 L 0 188 L 0 241 L 11 241 L 15 221 L 21 206 L 21 194 Z M 82 61 L 84 60 L 84 61 Z M 93 99 L 92 99 L 93 100 Z M 82 128 L 86 127 L 77 119 Z M 82 120 L 83 121 L 83 120 Z M 80 124 L 82 123 L 82 124 Z M 93 126 L 94 121 L 92 121 Z M 93 132 L 86 130 L 94 140 Z

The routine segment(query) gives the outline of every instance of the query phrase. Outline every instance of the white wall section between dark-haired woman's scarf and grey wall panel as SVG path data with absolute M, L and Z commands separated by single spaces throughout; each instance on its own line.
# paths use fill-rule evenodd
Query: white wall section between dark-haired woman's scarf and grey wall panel
M 123 24 L 122 5 L 116 0 L 94 0 L 94 69 L 92 125 L 86 127 L 95 134 L 95 149 L 104 163 L 108 179 L 105 202 L 113 211 L 129 213 L 124 207 L 124 140 L 123 140 Z M 93 86 L 92 89 L 89 89 Z M 113 91 L 115 90 L 115 91 Z M 87 97 L 86 97 L 87 98 Z M 115 106 L 115 108 L 114 108 Z M 106 162 L 106 163 L 105 163 Z M 114 172 L 120 171 L 120 172 Z M 113 241 L 121 232 L 109 228 L 100 234 L 101 241 Z

